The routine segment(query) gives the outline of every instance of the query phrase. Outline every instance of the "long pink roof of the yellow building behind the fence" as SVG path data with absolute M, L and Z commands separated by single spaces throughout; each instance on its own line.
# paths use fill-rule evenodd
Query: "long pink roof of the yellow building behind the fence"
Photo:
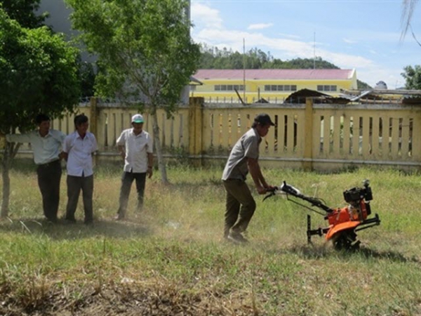
M 290 79 L 290 80 L 347 80 L 351 79 L 354 70 L 344 69 L 246 69 L 246 79 Z M 242 69 L 200 69 L 193 75 L 199 80 L 243 79 Z

